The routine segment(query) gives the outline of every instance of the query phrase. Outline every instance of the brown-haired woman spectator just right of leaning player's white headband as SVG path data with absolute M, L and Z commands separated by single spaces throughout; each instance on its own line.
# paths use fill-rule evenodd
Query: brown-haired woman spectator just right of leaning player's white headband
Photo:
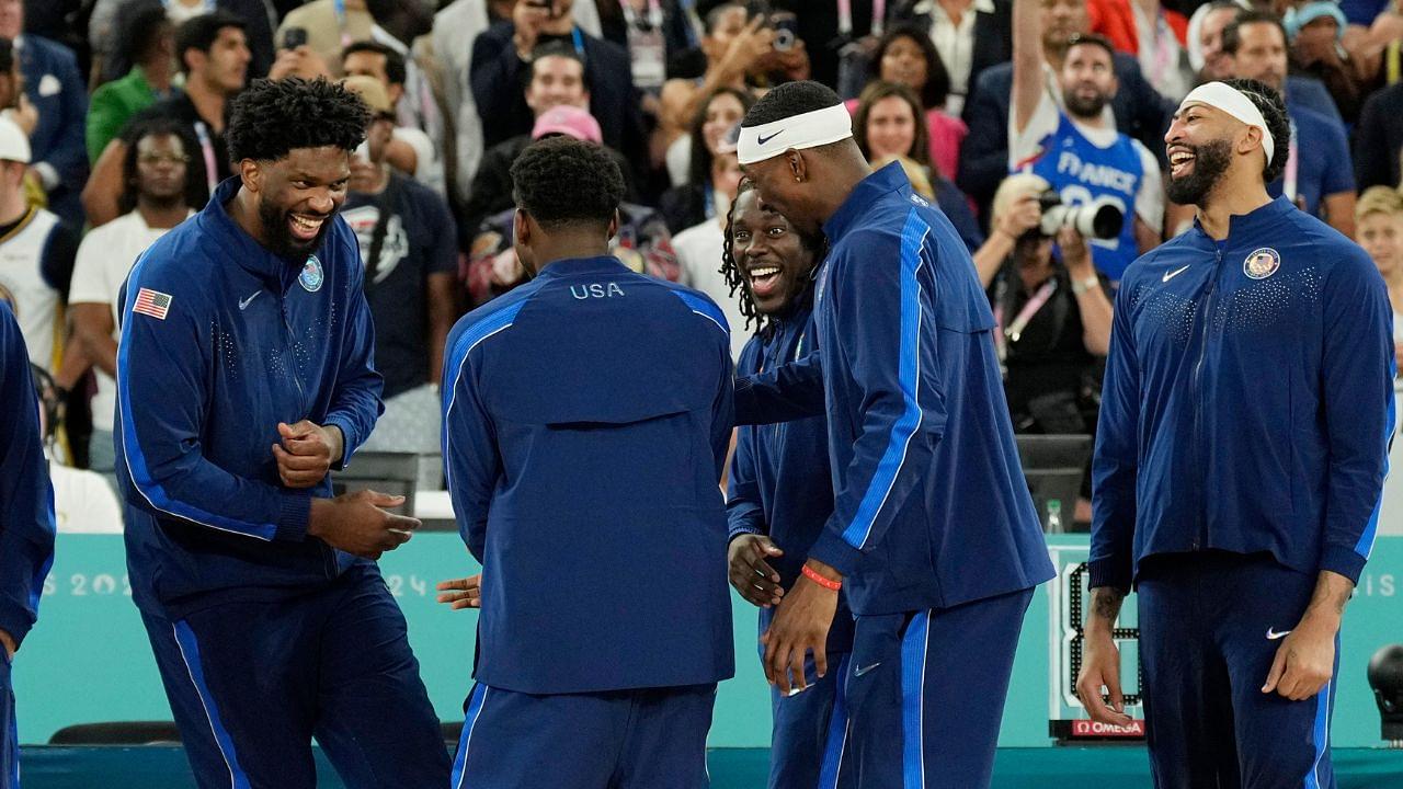
M 930 194 L 960 233 L 972 254 L 984 243 L 969 201 L 939 166 L 932 164 L 926 125 L 920 122 L 920 101 L 905 84 L 875 81 L 863 90 L 853 112 L 853 139 L 868 161 L 887 156 L 915 161 L 930 183 Z M 915 183 L 915 181 L 912 181 Z

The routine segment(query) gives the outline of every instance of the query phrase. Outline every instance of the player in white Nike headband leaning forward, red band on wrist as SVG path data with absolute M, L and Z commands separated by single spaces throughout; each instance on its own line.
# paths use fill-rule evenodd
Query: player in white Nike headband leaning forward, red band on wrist
M 758 101 L 738 154 L 765 202 L 831 244 L 818 354 L 737 386 L 742 423 L 828 413 L 833 512 L 762 637 L 766 674 L 787 692 L 810 657 L 832 670 L 847 590 L 852 785 L 988 786 L 1023 615 L 1052 563 L 974 263 L 899 166 L 871 171 L 818 83 Z

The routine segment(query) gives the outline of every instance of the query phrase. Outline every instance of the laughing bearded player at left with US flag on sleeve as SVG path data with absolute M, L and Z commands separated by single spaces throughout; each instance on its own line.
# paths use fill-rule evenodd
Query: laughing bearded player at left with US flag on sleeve
M 325 81 L 236 100 L 236 177 L 119 299 L 116 468 L 132 597 L 202 789 L 441 789 L 448 751 L 375 559 L 403 498 L 331 497 L 380 414 L 355 233 L 369 112 Z

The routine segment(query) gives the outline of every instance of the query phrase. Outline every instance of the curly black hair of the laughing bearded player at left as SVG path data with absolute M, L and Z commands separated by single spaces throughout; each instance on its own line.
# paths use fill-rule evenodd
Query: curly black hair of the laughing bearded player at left
M 229 114 L 229 160 L 278 161 L 299 147 L 355 150 L 370 110 L 355 93 L 327 80 L 254 80 Z

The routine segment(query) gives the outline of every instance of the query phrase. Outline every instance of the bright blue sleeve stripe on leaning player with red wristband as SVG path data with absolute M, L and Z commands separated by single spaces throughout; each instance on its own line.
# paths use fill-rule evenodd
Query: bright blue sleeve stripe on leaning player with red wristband
M 920 403 L 916 400 L 920 378 L 920 284 L 916 281 L 916 271 L 920 268 L 920 246 L 929 232 L 930 227 L 912 209 L 901 229 L 901 355 L 897 358 L 897 372 L 905 409 L 891 427 L 887 451 L 877 463 L 877 472 L 857 505 L 853 522 L 843 529 L 843 541 L 859 550 L 871 535 L 873 524 L 897 484 L 897 476 L 906 460 L 906 448 L 920 425 Z

